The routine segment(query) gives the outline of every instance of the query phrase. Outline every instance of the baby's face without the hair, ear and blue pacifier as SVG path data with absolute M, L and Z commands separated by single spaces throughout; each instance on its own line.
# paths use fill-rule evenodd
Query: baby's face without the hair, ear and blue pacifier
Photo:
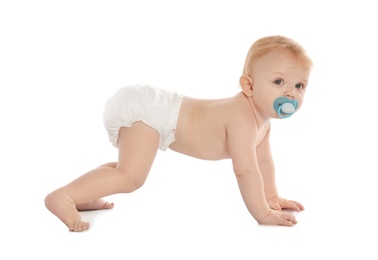
M 252 68 L 253 102 L 257 110 L 278 118 L 273 108 L 279 97 L 295 99 L 301 107 L 310 69 L 288 52 L 271 52 L 256 61 Z

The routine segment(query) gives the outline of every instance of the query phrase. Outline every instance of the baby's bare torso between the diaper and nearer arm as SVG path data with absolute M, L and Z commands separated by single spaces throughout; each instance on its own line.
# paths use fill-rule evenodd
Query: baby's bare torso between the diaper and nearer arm
M 176 141 L 169 148 L 196 158 L 229 158 L 227 122 L 233 98 L 202 100 L 184 97 L 176 127 Z

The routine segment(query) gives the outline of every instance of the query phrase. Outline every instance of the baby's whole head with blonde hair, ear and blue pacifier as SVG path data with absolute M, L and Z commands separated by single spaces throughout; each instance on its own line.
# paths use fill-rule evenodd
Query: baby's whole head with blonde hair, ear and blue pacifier
M 240 86 L 261 114 L 286 118 L 301 107 L 311 68 L 311 59 L 294 40 L 264 37 L 247 54 Z

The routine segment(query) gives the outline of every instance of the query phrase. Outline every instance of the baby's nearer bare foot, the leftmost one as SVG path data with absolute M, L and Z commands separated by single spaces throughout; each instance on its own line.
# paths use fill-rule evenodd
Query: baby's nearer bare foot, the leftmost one
M 89 223 L 81 221 L 75 202 L 66 192 L 56 190 L 50 193 L 45 198 L 45 205 L 70 231 L 78 232 L 89 228 Z

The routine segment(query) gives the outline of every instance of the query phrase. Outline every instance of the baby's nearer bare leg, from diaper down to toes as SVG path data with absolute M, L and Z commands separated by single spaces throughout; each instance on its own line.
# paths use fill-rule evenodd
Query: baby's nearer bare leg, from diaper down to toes
M 128 193 L 141 187 L 150 171 L 159 146 L 159 134 L 142 122 L 121 128 L 118 139 L 119 157 L 115 168 L 99 167 L 68 185 L 47 195 L 46 207 L 72 231 L 88 229 L 79 210 L 98 207 L 102 197 Z M 104 204 L 103 204 L 104 205 Z M 105 205 L 105 207 L 112 205 Z

